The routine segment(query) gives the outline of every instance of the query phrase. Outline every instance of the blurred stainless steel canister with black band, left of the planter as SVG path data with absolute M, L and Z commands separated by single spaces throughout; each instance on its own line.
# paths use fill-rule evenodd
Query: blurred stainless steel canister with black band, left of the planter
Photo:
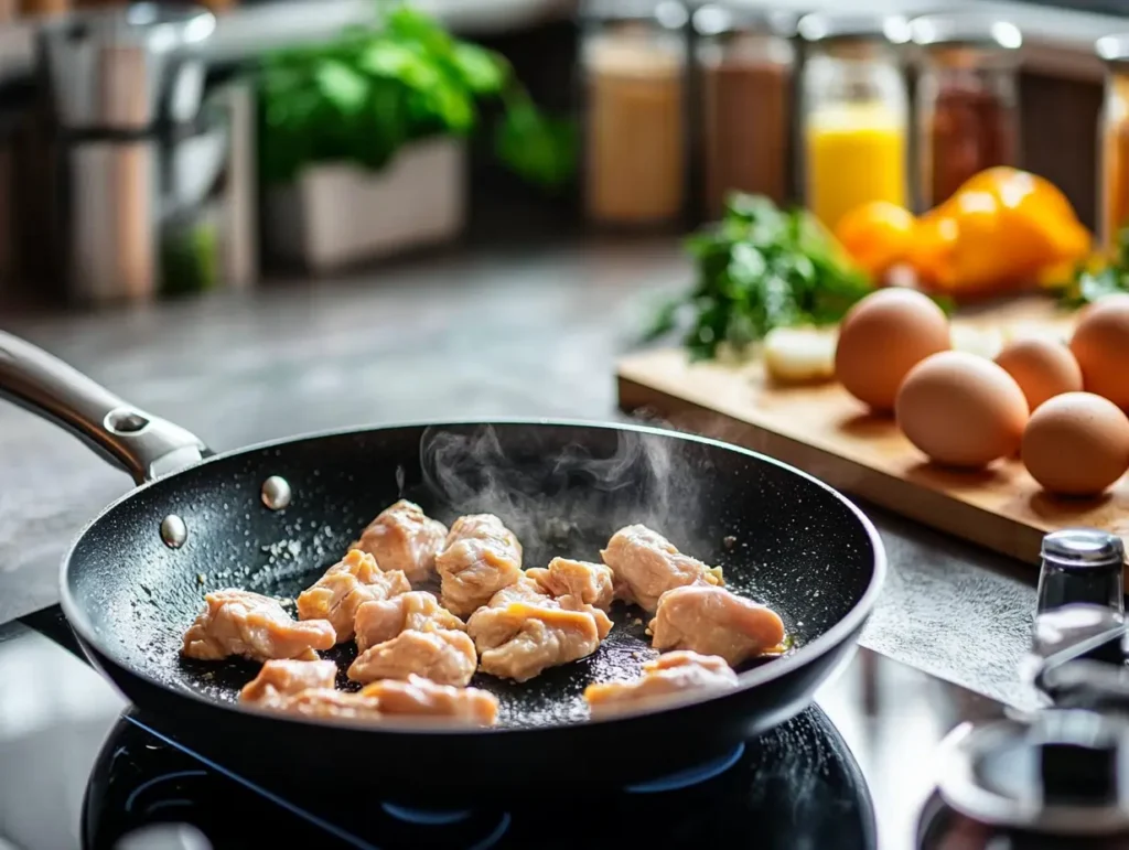
M 218 277 L 205 200 L 228 159 L 225 116 L 205 108 L 200 47 L 216 18 L 135 3 L 45 25 L 51 104 L 51 251 L 80 301 L 147 300 Z

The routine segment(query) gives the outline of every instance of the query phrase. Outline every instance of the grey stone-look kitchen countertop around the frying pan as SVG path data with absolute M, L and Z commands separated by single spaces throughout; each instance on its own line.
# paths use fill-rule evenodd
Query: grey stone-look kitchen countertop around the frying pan
M 364 423 L 618 418 L 615 357 L 654 299 L 689 280 L 677 245 L 509 244 L 135 310 L 0 313 L 0 326 L 218 450 Z M 3 622 L 55 601 L 67 543 L 129 482 L 6 404 L 0 482 Z M 1035 570 L 864 508 L 892 566 L 864 645 L 1027 704 L 1015 669 Z

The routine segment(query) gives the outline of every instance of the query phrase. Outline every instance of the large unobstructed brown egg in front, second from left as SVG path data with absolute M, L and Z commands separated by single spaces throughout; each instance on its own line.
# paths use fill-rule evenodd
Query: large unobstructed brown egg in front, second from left
M 931 461 L 980 468 L 1018 449 L 1027 402 L 991 360 L 942 351 L 910 369 L 895 413 L 902 432 Z

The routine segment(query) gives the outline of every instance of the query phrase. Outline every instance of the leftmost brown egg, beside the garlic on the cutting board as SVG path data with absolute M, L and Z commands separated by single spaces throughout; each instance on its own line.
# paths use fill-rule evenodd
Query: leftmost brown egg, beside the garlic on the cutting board
M 949 347 L 948 318 L 927 296 L 912 289 L 879 289 L 843 318 L 835 377 L 876 412 L 891 411 L 907 373 Z

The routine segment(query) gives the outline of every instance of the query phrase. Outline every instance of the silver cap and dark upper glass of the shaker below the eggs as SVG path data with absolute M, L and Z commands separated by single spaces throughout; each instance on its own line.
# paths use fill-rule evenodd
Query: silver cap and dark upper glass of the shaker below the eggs
M 1096 528 L 1064 528 L 1043 537 L 1035 613 L 1066 605 L 1101 605 L 1124 615 L 1124 545 Z

